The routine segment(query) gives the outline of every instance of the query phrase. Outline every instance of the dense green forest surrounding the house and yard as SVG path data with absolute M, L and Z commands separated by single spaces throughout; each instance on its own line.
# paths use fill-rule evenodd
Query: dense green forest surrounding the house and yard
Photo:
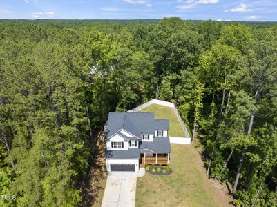
M 0 21 L 0 206 L 84 206 L 108 112 L 156 98 L 233 204 L 277 206 L 277 24 L 178 17 Z

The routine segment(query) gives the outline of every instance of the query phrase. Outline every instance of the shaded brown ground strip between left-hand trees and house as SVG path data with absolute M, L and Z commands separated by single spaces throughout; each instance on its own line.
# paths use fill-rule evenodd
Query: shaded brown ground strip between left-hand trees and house
M 105 153 L 105 141 L 104 141 L 104 131 L 100 130 L 99 132 L 93 135 L 95 140 L 95 147 L 93 149 L 93 155 L 90 157 L 89 170 L 82 178 L 79 188 L 82 189 L 82 203 L 79 206 L 93 206 L 99 192 L 103 190 L 102 181 L 106 179 L 106 164 L 104 161 Z

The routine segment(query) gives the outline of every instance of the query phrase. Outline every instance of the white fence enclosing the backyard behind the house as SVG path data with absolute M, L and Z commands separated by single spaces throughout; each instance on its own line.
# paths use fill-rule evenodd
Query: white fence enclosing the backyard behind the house
M 157 99 L 152 99 L 151 101 L 143 103 L 142 105 L 137 106 L 136 108 L 133 108 L 132 110 L 128 110 L 128 112 L 138 112 L 138 111 L 146 108 L 147 106 L 150 106 L 153 103 L 157 104 L 157 105 L 168 106 L 168 107 L 173 108 L 173 111 L 175 112 L 175 115 L 177 116 L 178 121 L 180 122 L 180 124 L 182 126 L 182 129 L 184 130 L 185 137 L 182 138 L 182 139 L 185 140 L 184 141 L 185 143 L 183 143 L 183 144 L 191 144 L 191 137 L 189 136 L 189 132 L 187 131 L 187 128 L 184 126 L 184 122 L 182 121 L 182 118 L 180 117 L 179 112 L 178 112 L 177 108 L 175 107 L 174 103 L 171 103 L 171 102 L 168 102 L 168 101 L 160 101 L 160 100 L 157 100 Z M 181 139 L 180 137 L 176 137 L 176 138 Z

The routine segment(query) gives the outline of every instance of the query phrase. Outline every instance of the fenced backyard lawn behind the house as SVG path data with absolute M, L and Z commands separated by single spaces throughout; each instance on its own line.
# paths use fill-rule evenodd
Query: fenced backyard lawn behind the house
M 169 119 L 169 136 L 184 137 L 184 131 L 172 108 L 151 104 L 140 112 L 155 112 L 155 119 Z

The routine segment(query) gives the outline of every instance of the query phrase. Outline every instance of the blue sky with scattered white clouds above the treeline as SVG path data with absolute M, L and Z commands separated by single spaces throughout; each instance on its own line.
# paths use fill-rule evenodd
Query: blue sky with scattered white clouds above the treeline
M 0 19 L 277 21 L 277 0 L 0 0 Z

